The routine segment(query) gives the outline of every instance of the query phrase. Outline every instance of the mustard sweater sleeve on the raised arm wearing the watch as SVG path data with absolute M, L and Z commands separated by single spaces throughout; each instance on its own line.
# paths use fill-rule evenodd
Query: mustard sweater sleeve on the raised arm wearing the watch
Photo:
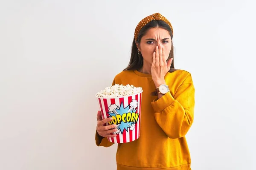
M 169 138 L 177 139 L 188 132 L 194 119 L 195 88 L 191 75 L 177 89 L 151 102 L 157 124 Z

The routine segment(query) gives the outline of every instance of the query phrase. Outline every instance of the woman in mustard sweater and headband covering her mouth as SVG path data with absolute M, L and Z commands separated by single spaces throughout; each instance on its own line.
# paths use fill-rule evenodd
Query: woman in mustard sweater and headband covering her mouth
M 113 80 L 143 88 L 140 138 L 118 144 L 117 170 L 191 170 L 185 135 L 193 123 L 195 89 L 189 72 L 174 69 L 172 37 L 161 14 L 145 17 L 135 29 L 128 67 Z M 106 137 L 116 136 L 116 125 L 103 126 L 111 118 L 102 120 L 100 111 L 97 121 L 96 144 L 111 146 Z

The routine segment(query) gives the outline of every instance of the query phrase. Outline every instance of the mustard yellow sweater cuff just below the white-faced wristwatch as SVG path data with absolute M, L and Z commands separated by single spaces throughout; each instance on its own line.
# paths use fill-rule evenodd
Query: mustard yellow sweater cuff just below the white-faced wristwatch
M 172 105 L 173 102 L 175 102 L 175 99 L 173 98 L 172 94 L 168 92 L 160 97 L 160 99 L 155 99 L 153 102 L 151 102 L 151 105 L 155 113 L 160 113 L 165 108 Z

